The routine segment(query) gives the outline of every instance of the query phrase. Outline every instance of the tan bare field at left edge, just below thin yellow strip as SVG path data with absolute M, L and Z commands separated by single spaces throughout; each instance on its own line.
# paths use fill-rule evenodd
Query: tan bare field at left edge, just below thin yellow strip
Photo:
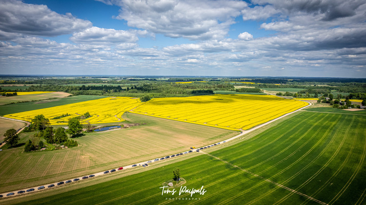
M 45 100 L 50 98 L 61 98 L 69 96 L 70 93 L 64 92 L 52 92 L 52 93 L 41 93 L 41 94 L 27 94 L 27 95 L 16 95 L 16 96 L 2 96 L 0 97 L 0 105 L 32 101 L 32 100 Z

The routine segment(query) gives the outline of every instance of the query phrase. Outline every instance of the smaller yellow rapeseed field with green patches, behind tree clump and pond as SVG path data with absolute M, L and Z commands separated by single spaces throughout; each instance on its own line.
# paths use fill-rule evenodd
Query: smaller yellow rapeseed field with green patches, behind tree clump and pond
M 122 121 L 122 114 L 141 104 L 138 98 L 131 97 L 107 97 L 97 100 L 89 100 L 68 105 L 61 105 L 52 108 L 45 108 L 27 112 L 8 114 L 4 117 L 31 121 L 34 116 L 43 114 L 50 120 L 51 125 L 67 124 L 69 118 L 81 116 L 89 112 L 92 116 L 86 118 L 85 122 L 90 123 L 109 123 Z M 64 114 L 69 114 L 59 119 L 52 119 Z

